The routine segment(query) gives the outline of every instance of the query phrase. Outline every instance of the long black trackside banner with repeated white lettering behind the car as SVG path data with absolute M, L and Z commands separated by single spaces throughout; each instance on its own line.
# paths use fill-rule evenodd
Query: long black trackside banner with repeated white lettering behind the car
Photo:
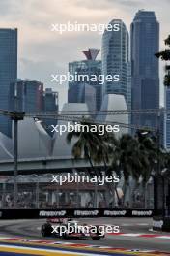
M 83 217 L 152 217 L 153 209 L 1 209 L 0 219 L 83 218 Z

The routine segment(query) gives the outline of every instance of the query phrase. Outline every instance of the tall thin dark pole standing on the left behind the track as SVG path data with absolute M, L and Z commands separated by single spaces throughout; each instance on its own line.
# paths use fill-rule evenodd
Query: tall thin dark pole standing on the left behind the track
M 17 125 L 18 120 L 14 118 L 14 208 L 17 208 L 18 187 L 17 187 Z

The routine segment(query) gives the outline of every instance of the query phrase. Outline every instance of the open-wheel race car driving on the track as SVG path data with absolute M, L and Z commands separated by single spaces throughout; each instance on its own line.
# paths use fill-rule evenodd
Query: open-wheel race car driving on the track
M 41 228 L 42 237 L 55 236 L 62 239 L 89 238 L 100 240 L 104 238 L 104 230 L 99 225 L 80 224 L 77 220 L 67 218 L 47 219 Z

